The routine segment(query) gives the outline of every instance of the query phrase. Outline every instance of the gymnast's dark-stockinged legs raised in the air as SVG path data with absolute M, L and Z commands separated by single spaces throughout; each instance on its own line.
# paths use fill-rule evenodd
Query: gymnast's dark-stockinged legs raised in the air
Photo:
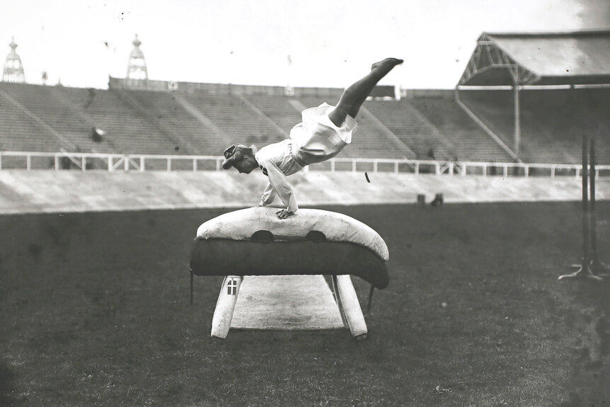
M 364 78 L 343 91 L 343 95 L 341 95 L 335 108 L 328 113 L 330 121 L 337 127 L 341 127 L 347 115 L 355 118 L 360 110 L 360 106 L 367 100 L 369 93 L 371 93 L 377 82 L 386 76 L 393 67 L 402 63 L 402 59 L 386 58 L 373 64 L 367 76 L 364 76 Z

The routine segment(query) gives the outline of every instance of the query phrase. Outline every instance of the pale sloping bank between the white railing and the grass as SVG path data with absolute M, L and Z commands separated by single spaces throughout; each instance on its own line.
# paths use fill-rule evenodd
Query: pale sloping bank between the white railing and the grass
M 581 197 L 574 177 L 502 178 L 362 172 L 300 172 L 291 176 L 299 205 L 412 204 L 437 193 L 451 202 L 531 202 Z M 0 214 L 173 210 L 258 205 L 267 180 L 236 171 L 0 171 Z M 599 178 L 599 200 L 610 199 L 610 181 Z M 279 201 L 278 201 L 279 202 Z M 277 205 L 281 203 L 276 202 Z

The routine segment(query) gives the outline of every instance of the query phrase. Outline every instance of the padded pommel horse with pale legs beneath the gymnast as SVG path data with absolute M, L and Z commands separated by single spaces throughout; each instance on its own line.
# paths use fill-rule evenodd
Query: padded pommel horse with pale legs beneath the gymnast
M 191 301 L 193 275 L 225 276 L 211 335 L 228 335 L 244 276 L 329 275 L 343 325 L 353 337 L 365 338 L 367 324 L 350 275 L 369 282 L 371 294 L 389 285 L 384 240 L 345 214 L 300 209 L 278 219 L 275 212 L 274 207 L 237 210 L 197 229 L 191 246 Z

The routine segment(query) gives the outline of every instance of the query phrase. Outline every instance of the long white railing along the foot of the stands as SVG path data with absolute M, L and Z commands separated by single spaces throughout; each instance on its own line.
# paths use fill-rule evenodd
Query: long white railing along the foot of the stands
M 160 154 L 101 154 L 38 151 L 0 151 L 0 171 L 78 169 L 80 171 L 220 171 L 222 156 L 179 156 Z M 580 164 L 526 164 L 474 161 L 430 161 L 408 159 L 330 159 L 313 164 L 307 171 L 369 171 L 447 176 L 574 176 Z M 610 166 L 599 165 L 596 176 L 609 176 Z

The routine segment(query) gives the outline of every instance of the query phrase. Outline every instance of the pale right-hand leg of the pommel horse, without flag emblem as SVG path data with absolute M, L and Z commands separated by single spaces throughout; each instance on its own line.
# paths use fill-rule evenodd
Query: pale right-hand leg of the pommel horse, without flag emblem
M 360 308 L 360 303 L 352 284 L 350 275 L 333 275 L 333 290 L 339 306 L 343 323 L 357 339 L 367 337 L 367 322 Z

